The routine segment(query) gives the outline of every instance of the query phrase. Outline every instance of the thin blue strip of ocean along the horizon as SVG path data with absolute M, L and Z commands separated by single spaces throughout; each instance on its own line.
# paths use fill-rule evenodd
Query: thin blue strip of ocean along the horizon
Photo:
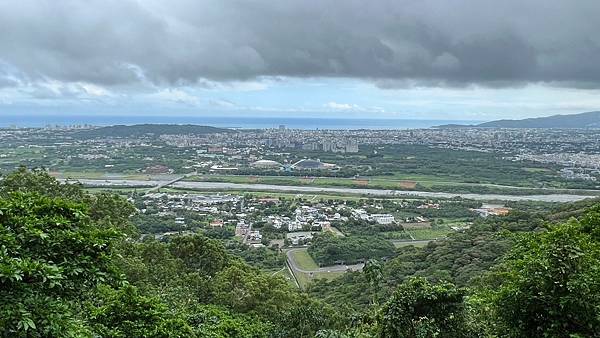
M 116 115 L 0 115 L 0 127 L 46 127 L 70 125 L 108 126 L 116 124 L 197 124 L 221 128 L 264 129 L 284 125 L 289 129 L 417 129 L 469 120 L 351 119 L 248 116 L 116 116 Z

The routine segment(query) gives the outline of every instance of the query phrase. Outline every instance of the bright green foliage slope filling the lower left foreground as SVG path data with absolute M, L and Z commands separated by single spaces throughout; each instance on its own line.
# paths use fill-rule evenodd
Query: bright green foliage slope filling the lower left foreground
M 0 335 L 308 337 L 339 327 L 331 307 L 218 240 L 135 240 L 120 197 L 26 170 L 0 192 Z

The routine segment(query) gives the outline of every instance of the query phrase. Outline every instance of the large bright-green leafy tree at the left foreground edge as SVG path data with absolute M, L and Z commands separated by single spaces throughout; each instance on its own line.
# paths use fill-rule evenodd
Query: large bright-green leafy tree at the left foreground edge
M 35 193 L 0 198 L 0 332 L 82 335 L 77 300 L 117 279 L 119 232 L 97 226 L 84 204 Z M 29 332 L 29 333 L 28 333 Z

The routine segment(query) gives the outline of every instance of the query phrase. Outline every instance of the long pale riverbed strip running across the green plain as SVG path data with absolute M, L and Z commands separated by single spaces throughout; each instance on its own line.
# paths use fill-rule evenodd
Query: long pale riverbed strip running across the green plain
M 93 180 L 79 179 L 83 185 L 87 186 L 136 186 L 136 187 L 154 187 L 164 184 L 167 181 L 143 181 L 143 180 Z M 243 191 L 283 191 L 283 192 L 302 192 L 302 193 L 337 193 L 337 194 L 356 194 L 371 196 L 388 197 L 429 197 L 429 198 L 454 198 L 462 197 L 472 200 L 490 201 L 540 201 L 540 202 L 575 202 L 595 196 L 569 195 L 569 194 L 548 194 L 548 195 L 505 195 L 505 194 L 455 194 L 445 192 L 429 191 L 399 191 L 385 189 L 360 189 L 360 188 L 333 188 L 333 187 L 310 187 L 310 186 L 289 186 L 273 184 L 244 184 L 244 183 L 225 183 L 225 182 L 187 182 L 178 181 L 170 185 L 173 188 L 187 188 L 198 190 L 243 190 Z

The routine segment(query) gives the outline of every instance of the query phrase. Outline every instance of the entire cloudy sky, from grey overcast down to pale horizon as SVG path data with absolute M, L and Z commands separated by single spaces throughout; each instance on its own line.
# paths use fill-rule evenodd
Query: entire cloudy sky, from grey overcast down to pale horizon
M 3 0 L 1 114 L 600 109 L 597 0 Z

